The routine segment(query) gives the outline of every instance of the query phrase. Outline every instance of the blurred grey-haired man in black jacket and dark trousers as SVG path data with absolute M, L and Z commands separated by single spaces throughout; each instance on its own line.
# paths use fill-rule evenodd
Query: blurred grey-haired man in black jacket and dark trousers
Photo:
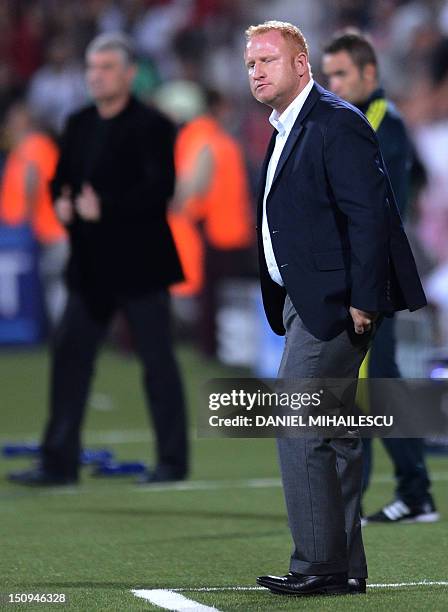
M 76 482 L 80 429 L 98 348 L 120 309 L 133 334 L 157 442 L 148 482 L 185 478 L 186 417 L 170 332 L 168 286 L 182 270 L 166 221 L 174 189 L 174 128 L 130 95 L 133 53 L 121 35 L 87 48 L 95 102 L 72 115 L 52 183 L 70 236 L 68 305 L 56 333 L 50 418 L 39 467 L 11 475 L 26 485 Z

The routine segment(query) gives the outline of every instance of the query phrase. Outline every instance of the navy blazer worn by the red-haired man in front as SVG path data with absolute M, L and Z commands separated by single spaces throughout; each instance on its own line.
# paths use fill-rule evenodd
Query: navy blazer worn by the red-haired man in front
M 376 135 L 360 111 L 317 84 L 285 144 L 267 200 L 285 287 L 271 280 L 261 227 L 275 136 L 262 170 L 257 225 L 263 303 L 272 329 L 285 333 L 286 294 L 322 340 L 346 328 L 350 306 L 385 314 L 424 306 Z

